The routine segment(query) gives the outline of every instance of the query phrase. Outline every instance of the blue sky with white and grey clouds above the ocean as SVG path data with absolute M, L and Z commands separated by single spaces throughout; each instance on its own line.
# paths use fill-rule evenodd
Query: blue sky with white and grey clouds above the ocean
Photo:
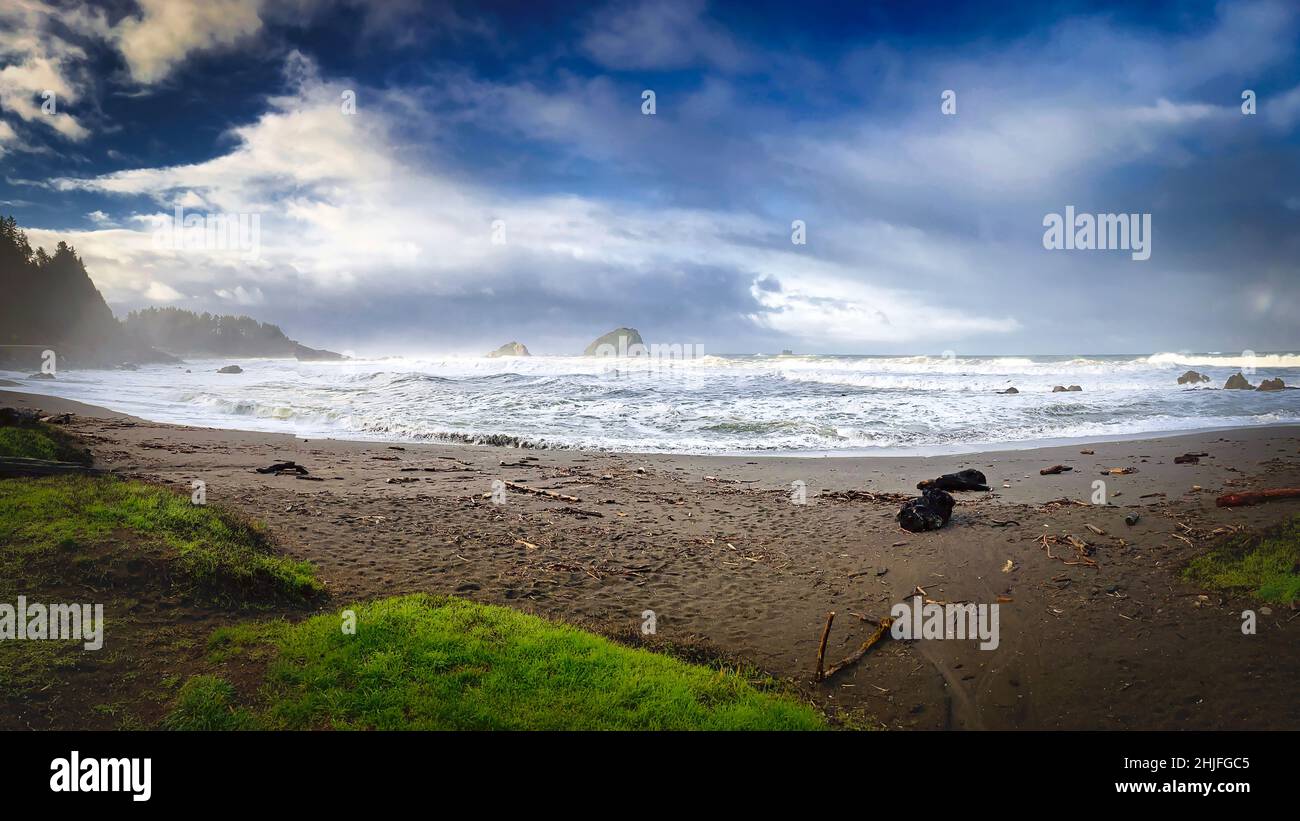
M 1297 51 L 1292 0 L 4 0 L 0 213 L 118 316 L 361 355 L 1294 351 Z

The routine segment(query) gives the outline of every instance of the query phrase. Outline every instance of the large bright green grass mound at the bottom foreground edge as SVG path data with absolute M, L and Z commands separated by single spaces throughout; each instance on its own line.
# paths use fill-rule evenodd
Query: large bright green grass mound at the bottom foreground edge
M 733 672 L 616 644 L 575 627 L 424 594 L 358 604 L 355 634 L 332 613 L 273 627 L 259 692 L 268 729 L 812 730 L 816 709 Z M 229 631 L 229 652 L 257 640 Z M 211 647 L 211 644 L 209 644 Z M 194 681 L 194 679 L 191 679 Z M 196 685 L 214 687 L 211 682 Z M 182 699 L 169 726 L 195 724 Z M 211 716 L 233 709 L 229 696 Z

